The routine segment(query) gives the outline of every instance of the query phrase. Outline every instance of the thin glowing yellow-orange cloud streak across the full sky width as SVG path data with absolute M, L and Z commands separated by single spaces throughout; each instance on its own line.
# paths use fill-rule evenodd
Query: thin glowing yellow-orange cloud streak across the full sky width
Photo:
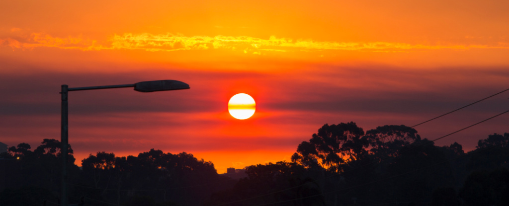
M 13 28 L 11 35 L 0 39 L 0 45 L 15 49 L 33 49 L 36 47 L 56 47 L 61 49 L 110 50 L 128 49 L 145 51 L 178 51 L 227 49 L 239 52 L 260 54 L 261 51 L 313 52 L 324 50 L 369 51 L 369 52 L 410 52 L 437 49 L 509 49 L 509 43 L 496 44 L 408 44 L 401 42 L 329 42 L 315 40 L 293 40 L 271 36 L 268 39 L 248 36 L 192 36 L 175 34 L 114 34 L 105 42 L 83 37 L 53 37 L 43 33 L 31 33 L 27 37 L 19 35 L 19 29 Z

